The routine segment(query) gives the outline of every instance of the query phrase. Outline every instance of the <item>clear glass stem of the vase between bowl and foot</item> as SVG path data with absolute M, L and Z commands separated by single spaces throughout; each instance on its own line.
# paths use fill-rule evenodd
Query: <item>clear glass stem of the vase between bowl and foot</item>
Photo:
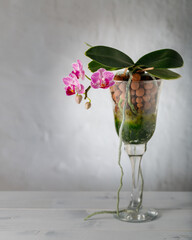
M 130 158 L 132 167 L 132 192 L 129 209 L 139 210 L 142 207 L 144 179 L 141 170 L 142 156 L 146 144 L 127 144 L 125 150 Z

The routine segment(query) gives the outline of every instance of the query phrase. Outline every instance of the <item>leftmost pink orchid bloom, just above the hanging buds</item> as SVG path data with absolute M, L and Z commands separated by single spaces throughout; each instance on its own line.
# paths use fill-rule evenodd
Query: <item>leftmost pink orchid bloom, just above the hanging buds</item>
M 63 78 L 65 84 L 65 91 L 67 96 L 74 95 L 75 93 L 83 94 L 85 92 L 84 86 L 79 83 L 77 76 L 70 73 L 68 77 Z

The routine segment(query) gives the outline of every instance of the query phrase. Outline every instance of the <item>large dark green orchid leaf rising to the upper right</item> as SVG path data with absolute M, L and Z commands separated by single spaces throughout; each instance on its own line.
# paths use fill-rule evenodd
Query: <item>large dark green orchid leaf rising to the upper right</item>
M 183 59 L 175 50 L 161 49 L 144 55 L 135 65 L 154 68 L 177 68 L 183 66 Z

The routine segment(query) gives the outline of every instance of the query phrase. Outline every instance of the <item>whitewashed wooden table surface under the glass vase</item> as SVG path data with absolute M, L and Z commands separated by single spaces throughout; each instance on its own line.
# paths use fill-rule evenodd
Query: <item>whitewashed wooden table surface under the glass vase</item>
M 129 193 L 121 193 L 122 207 Z M 160 210 L 158 219 L 127 223 L 110 214 L 115 192 L 0 192 L 1 240 L 184 240 L 192 239 L 191 192 L 144 192 L 144 206 Z

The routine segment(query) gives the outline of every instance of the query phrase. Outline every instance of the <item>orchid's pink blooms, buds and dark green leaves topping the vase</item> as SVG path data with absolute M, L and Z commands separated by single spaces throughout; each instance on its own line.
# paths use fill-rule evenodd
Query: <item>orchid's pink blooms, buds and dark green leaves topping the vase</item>
M 178 52 L 172 49 L 161 49 L 148 53 L 141 57 L 136 63 L 125 53 L 106 46 L 89 46 L 85 55 L 92 61 L 88 64 L 92 72 L 91 77 L 85 74 L 82 62 L 77 60 L 72 64 L 72 72 L 63 78 L 67 96 L 76 95 L 76 102 L 81 103 L 84 95 L 86 109 L 91 107 L 91 99 L 88 97 L 88 91 L 91 88 L 107 89 L 115 84 L 114 73 L 111 71 L 125 69 L 129 71 L 130 76 L 134 78 L 136 73 L 147 72 L 153 79 L 176 79 L 180 75 L 169 68 L 178 68 L 183 65 L 183 59 Z M 90 81 L 85 89 L 80 80 L 85 77 Z M 131 81 L 131 78 L 129 79 Z

